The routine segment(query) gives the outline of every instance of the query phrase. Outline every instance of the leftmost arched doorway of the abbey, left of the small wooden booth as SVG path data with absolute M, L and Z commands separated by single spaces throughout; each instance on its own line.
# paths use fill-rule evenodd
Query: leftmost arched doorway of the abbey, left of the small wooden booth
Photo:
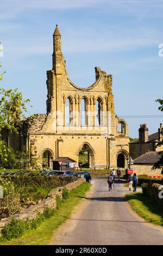
M 43 168 L 53 169 L 54 153 L 51 149 L 44 149 L 41 153 L 41 162 Z

